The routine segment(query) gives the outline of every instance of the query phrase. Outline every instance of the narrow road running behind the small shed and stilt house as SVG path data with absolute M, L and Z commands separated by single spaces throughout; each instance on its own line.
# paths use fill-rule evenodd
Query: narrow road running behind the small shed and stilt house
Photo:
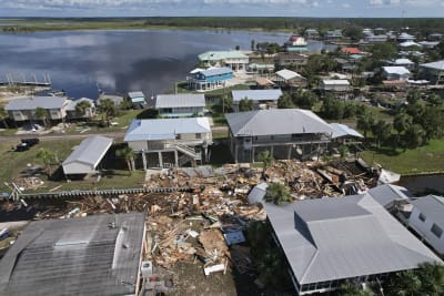
M 213 126 L 211 129 L 213 133 L 226 133 L 228 134 L 228 127 L 226 126 Z M 90 133 L 77 133 L 77 134 L 20 134 L 20 135 L 4 135 L 0 136 L 0 141 L 20 141 L 20 139 L 24 137 L 39 137 L 40 141 L 60 141 L 60 140 L 82 140 L 91 135 L 104 135 L 104 136 L 110 136 L 113 139 L 121 139 L 123 140 L 127 131 L 114 131 L 114 132 L 90 132 Z

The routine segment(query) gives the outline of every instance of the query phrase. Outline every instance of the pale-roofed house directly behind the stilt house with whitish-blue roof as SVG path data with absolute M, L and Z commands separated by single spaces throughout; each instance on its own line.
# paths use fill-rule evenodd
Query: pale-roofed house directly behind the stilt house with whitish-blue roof
M 203 115 L 205 95 L 192 93 L 159 94 L 155 109 L 164 118 Z

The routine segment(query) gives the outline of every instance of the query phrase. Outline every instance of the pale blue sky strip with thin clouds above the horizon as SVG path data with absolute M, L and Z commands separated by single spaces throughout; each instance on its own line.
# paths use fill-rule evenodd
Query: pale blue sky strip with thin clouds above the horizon
M 0 0 L 0 17 L 444 17 L 444 0 Z

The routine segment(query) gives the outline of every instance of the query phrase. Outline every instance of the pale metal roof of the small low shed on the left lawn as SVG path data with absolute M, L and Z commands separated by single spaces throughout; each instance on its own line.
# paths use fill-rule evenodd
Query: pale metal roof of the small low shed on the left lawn
M 75 147 L 75 150 L 64 160 L 62 163 L 63 171 L 65 174 L 81 174 L 81 173 L 90 173 L 90 172 L 67 172 L 65 165 L 79 162 L 89 164 L 92 166 L 97 166 L 100 161 L 103 159 L 104 154 L 107 154 L 108 150 L 112 145 L 112 139 L 105 137 L 101 135 L 94 135 L 84 139 L 80 145 Z

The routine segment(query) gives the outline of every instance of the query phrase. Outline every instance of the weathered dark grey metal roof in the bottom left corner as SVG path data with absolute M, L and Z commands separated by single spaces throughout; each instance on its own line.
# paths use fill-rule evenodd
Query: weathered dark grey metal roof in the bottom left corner
M 142 213 L 31 222 L 0 261 L 0 295 L 134 295 L 144 222 Z

